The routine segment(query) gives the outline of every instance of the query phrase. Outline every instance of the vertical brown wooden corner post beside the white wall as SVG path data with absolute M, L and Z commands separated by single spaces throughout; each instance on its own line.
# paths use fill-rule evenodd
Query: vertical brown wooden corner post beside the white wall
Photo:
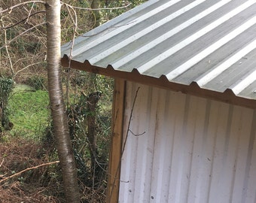
M 108 162 L 108 193 L 107 202 L 118 202 L 120 161 L 123 142 L 123 114 L 125 99 L 126 81 L 123 79 L 114 80 L 114 98 L 112 110 L 112 137 L 111 150 Z

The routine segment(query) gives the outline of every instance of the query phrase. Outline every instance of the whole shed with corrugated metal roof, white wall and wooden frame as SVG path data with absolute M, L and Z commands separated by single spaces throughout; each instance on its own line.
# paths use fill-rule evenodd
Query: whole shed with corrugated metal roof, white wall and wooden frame
M 151 0 L 62 46 L 114 77 L 108 202 L 256 202 L 256 0 Z

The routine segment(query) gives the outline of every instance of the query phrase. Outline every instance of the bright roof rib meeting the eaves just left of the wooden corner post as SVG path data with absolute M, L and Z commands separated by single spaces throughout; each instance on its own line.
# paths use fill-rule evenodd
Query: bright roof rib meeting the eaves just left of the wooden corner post
M 114 68 L 120 68 L 120 66 L 126 64 L 127 62 L 130 62 L 136 57 L 139 57 L 142 53 L 145 53 L 146 51 L 151 50 L 153 47 L 157 46 L 157 44 L 160 44 L 163 41 L 166 41 L 166 39 L 171 38 L 173 35 L 177 34 L 178 32 L 181 32 L 181 30 L 187 28 L 193 23 L 196 23 L 198 20 L 202 19 L 203 17 L 206 17 L 207 15 L 211 14 L 213 11 L 216 11 L 218 8 L 221 8 L 221 6 L 226 5 L 230 1 L 231 0 L 228 0 L 228 1 L 223 0 L 221 2 L 216 3 L 215 5 L 212 5 L 210 8 L 207 8 L 206 10 L 200 12 L 200 14 L 197 14 L 195 17 L 190 18 L 184 23 L 181 23 L 180 25 L 171 29 L 169 32 L 164 33 L 160 37 L 154 39 L 153 41 L 150 41 L 148 44 L 140 47 L 138 50 L 134 51 L 133 53 L 130 53 L 124 56 L 123 58 L 119 59 L 117 62 L 114 62 L 112 66 Z M 181 11 L 182 10 L 183 8 L 181 9 Z M 141 68 L 141 71 L 143 71 L 142 68 Z

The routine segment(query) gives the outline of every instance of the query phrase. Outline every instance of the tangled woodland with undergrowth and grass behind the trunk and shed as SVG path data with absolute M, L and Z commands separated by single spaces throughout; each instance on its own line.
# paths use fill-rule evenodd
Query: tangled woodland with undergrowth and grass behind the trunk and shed
M 62 44 L 142 2 L 62 2 Z M 45 94 L 51 88 L 47 83 L 45 2 L 0 2 L 0 67 L 0 199 L 64 202 L 49 98 Z M 113 81 L 70 68 L 62 68 L 61 74 L 81 201 L 105 202 Z M 35 94 L 37 100 L 33 103 Z M 29 123 L 32 115 L 40 122 Z

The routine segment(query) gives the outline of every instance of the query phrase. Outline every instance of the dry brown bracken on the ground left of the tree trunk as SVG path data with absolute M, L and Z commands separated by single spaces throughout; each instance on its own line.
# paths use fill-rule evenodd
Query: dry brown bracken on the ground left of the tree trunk
M 21 138 L 0 143 L 0 178 L 3 180 L 26 168 L 48 162 L 40 144 Z M 59 180 L 50 178 L 49 165 L 44 165 L 8 178 L 0 184 L 0 202 L 63 202 Z

